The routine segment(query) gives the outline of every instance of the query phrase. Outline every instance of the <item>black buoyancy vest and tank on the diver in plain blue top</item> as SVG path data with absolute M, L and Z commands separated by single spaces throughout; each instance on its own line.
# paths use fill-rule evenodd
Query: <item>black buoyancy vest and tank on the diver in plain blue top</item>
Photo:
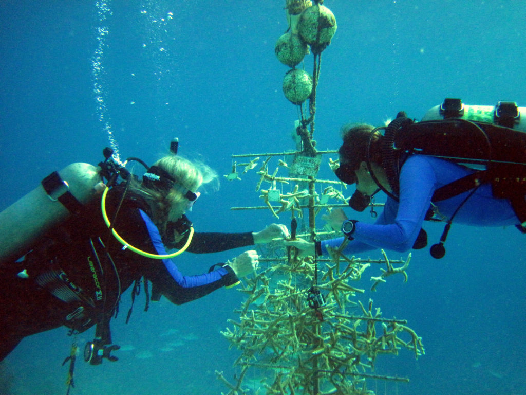
M 494 197 L 508 199 L 517 215 L 521 232 L 526 233 L 526 107 L 514 102 L 495 106 L 465 105 L 460 99 L 446 98 L 431 108 L 420 122 L 399 113 L 385 129 L 382 142 L 382 166 L 386 171 L 394 199 L 398 198 L 401 165 L 408 155 L 439 157 L 475 171 L 440 187 L 432 202 L 476 191 L 489 183 Z M 448 220 L 440 243 L 431 247 L 434 258 L 445 253 L 443 243 L 454 216 Z

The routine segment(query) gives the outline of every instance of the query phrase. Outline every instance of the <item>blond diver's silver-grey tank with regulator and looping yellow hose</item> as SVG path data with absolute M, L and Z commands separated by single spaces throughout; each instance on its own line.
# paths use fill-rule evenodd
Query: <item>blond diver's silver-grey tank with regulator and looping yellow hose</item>
M 178 139 L 171 141 L 170 151 L 173 154 L 177 154 L 178 145 Z M 120 163 L 115 160 L 113 150 L 110 148 L 104 149 L 103 155 L 105 161 L 100 162 L 97 167 L 78 162 L 64 167 L 60 172 L 55 171 L 49 174 L 42 180 L 41 185 L 0 213 L 0 234 L 2 235 L 0 264 L 21 258 L 33 248 L 35 242 L 46 232 L 62 223 L 70 214 L 80 212 L 84 205 L 96 196 L 102 196 L 101 209 L 106 225 L 115 238 L 131 251 L 152 259 L 169 259 L 183 253 L 188 248 L 194 229 L 186 217 L 181 218 L 176 223 L 169 224 L 175 226 L 180 232 L 188 232 L 189 234 L 183 248 L 171 254 L 150 254 L 135 248 L 120 237 L 106 213 L 106 195 L 109 188 L 115 184 L 118 176 L 126 180 L 126 185 L 129 185 L 130 179 L 135 177 L 125 168 L 128 161 L 137 161 L 144 165 L 148 171 L 155 166 L 150 168 L 136 157 L 130 157 L 125 163 Z M 146 174 L 149 174 L 148 171 Z M 108 180 L 107 184 L 103 182 L 103 177 Z M 155 180 L 147 181 L 168 187 L 173 186 L 172 182 L 166 181 L 167 178 L 163 175 L 154 174 L 154 177 L 156 177 Z M 124 199 L 126 190 L 127 187 L 122 199 Z M 197 197 L 194 197 L 195 199 Z

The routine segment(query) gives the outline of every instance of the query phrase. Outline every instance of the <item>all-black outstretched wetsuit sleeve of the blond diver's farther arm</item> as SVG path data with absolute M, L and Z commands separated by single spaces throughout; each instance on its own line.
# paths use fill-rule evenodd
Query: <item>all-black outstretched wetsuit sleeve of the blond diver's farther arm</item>
M 174 245 L 176 249 L 180 249 L 185 245 L 186 240 L 178 242 Z M 254 237 L 251 232 L 246 233 L 194 233 L 192 242 L 188 246 L 188 252 L 195 254 L 205 254 L 209 252 L 219 252 L 231 250 L 234 248 L 245 247 L 254 244 Z M 172 246 L 170 245 L 170 248 Z

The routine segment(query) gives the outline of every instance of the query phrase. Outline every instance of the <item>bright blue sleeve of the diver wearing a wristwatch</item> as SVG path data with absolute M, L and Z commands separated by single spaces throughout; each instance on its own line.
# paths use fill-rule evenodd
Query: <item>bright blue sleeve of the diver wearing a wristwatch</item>
M 400 172 L 400 202 L 388 198 L 382 213 L 374 224 L 358 222 L 352 240 L 344 253 L 353 254 L 378 248 L 404 252 L 411 249 L 420 232 L 436 189 L 433 167 L 420 155 L 410 157 Z M 340 239 L 323 241 L 338 246 Z

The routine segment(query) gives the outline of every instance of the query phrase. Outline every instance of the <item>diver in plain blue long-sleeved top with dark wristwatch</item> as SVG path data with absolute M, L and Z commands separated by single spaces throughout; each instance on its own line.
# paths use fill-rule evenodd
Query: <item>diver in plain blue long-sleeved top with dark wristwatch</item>
M 357 192 L 351 197 L 349 204 L 358 211 L 366 208 L 370 196 L 379 191 L 379 186 L 384 190 L 391 190 L 386 170 L 382 166 L 383 136 L 375 132 L 371 138 L 373 129 L 370 125 L 354 125 L 342 130 L 340 167 L 336 170 L 336 175 L 347 184 L 356 183 Z M 368 145 L 369 165 L 367 164 Z M 520 221 L 510 201 L 495 198 L 489 183 L 483 183 L 448 199 L 432 202 L 433 194 L 440 187 L 473 172 L 474 170 L 466 166 L 437 157 L 411 155 L 404 158 L 401 165 L 398 201 L 388 196 L 383 212 L 378 215 L 375 223 L 348 220 L 341 209 L 333 209 L 329 215 L 324 215 L 323 219 L 333 229 L 341 229 L 350 240 L 343 251 L 346 254 L 378 248 L 399 252 L 411 248 L 423 248 L 427 244 L 427 235 L 421 230 L 421 226 L 424 220 L 431 218 L 442 221 L 450 221 L 454 218 L 455 222 L 475 226 L 519 224 Z M 376 178 L 376 181 L 373 178 Z M 286 241 L 285 244 L 295 246 L 304 256 L 314 255 L 315 252 L 326 255 L 328 246 L 337 248 L 343 239 L 336 238 L 315 243 L 296 240 Z M 443 244 L 442 240 L 441 244 Z M 441 246 L 441 244 L 437 245 Z M 433 254 L 433 250 L 431 253 Z

